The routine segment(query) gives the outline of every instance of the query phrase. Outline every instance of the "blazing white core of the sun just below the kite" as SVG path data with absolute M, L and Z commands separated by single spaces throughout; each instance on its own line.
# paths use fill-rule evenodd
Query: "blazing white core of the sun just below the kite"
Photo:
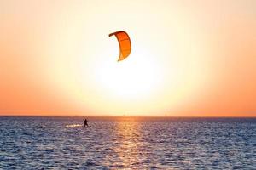
M 105 62 L 96 69 L 97 81 L 108 95 L 119 99 L 150 97 L 160 88 L 160 65 L 148 54 L 131 54 L 122 62 Z

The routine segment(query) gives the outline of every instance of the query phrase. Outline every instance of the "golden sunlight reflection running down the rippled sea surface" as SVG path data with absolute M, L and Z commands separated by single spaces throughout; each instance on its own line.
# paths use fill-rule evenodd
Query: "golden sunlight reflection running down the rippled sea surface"
M 161 151 L 164 153 L 167 150 L 163 148 L 165 144 L 157 144 L 155 135 L 162 136 L 163 141 L 166 136 L 147 131 L 148 123 L 150 127 L 156 125 L 154 119 L 145 120 L 138 117 L 119 117 L 116 119 L 113 128 L 113 135 L 116 136 L 116 139 L 112 141 L 113 151 L 106 157 L 104 163 L 127 169 L 132 167 L 147 168 L 147 165 L 150 164 L 163 169 L 168 168 L 167 164 L 153 161 L 160 159 Z

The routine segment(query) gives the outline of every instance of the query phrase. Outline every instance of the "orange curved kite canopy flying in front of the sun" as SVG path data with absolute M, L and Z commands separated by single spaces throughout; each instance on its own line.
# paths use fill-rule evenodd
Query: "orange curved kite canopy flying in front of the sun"
M 125 31 L 116 31 L 111 34 L 109 34 L 109 37 L 115 35 L 115 37 L 119 41 L 119 48 L 120 48 L 120 54 L 119 54 L 119 60 L 121 61 L 129 56 L 131 53 L 131 39 L 128 36 L 128 34 Z

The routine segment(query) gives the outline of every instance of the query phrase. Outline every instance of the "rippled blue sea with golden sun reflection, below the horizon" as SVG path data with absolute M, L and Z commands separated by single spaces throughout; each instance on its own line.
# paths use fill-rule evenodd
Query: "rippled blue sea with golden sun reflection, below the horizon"
M 0 116 L 0 169 L 256 169 L 256 118 Z M 44 126 L 44 127 L 42 127 Z

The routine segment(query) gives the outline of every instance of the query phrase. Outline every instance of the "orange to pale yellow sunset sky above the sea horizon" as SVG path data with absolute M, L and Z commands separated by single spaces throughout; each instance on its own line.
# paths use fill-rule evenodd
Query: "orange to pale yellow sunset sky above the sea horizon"
M 256 116 L 255 8 L 0 0 L 0 115 Z

